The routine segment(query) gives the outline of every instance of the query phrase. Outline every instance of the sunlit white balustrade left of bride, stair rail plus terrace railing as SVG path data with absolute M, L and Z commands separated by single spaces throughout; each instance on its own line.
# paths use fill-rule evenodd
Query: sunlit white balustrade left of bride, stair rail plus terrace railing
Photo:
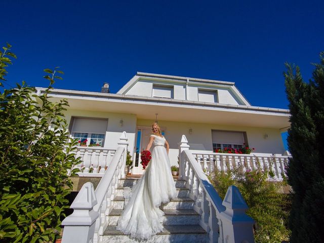
M 108 215 L 112 210 L 111 200 L 117 194 L 118 179 L 125 175 L 125 158 L 128 147 L 126 132 L 121 135 L 118 145 L 115 150 L 85 148 L 78 151 L 77 154 L 88 156 L 83 162 L 84 165 L 89 166 L 90 161 L 91 165 L 98 168 L 96 173 L 88 172 L 88 174 L 91 176 L 101 174 L 102 178 L 95 191 L 92 183 L 87 182 L 77 194 L 71 205 L 74 212 L 62 221 L 62 225 L 64 225 L 63 243 L 100 243 L 102 241 L 103 231 L 108 225 Z M 113 154 L 112 159 L 109 159 L 111 156 L 109 152 Z M 106 161 L 105 164 L 103 161 Z M 101 169 L 99 170 L 101 166 L 107 167 L 106 170 L 103 170 L 104 173 L 101 173 Z M 82 238 L 79 235 L 82 235 Z

